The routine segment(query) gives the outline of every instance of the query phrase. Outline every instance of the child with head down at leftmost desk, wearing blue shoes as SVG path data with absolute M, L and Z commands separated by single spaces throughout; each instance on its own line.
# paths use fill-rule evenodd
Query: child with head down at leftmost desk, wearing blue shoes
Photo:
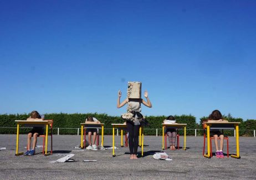
M 33 112 L 30 113 L 30 117 L 27 120 L 44 120 L 44 117 L 36 111 L 33 110 Z M 37 145 L 37 137 L 44 134 L 44 128 L 43 127 L 34 127 L 31 131 L 28 133 L 28 146 L 27 151 L 24 153 L 24 156 L 33 156 L 35 154 L 35 146 Z M 30 150 L 31 146 L 31 137 L 34 137 L 33 139 L 33 145 L 32 150 Z

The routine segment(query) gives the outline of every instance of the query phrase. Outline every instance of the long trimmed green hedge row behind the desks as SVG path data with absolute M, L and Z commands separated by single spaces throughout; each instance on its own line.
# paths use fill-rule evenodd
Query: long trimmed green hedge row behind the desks
M 88 116 L 95 117 L 104 123 L 104 133 L 111 134 L 112 123 L 124 123 L 124 120 L 121 117 L 114 117 L 107 114 L 98 114 L 98 113 L 88 113 L 88 114 L 45 114 L 45 119 L 53 119 L 53 127 L 54 128 L 80 128 L 80 123 L 84 123 L 86 117 Z M 29 114 L 2 114 L 0 115 L 0 134 L 16 134 L 16 122 L 14 120 L 26 120 L 29 117 Z M 165 116 L 149 116 L 146 117 L 147 121 L 149 121 L 149 125 L 145 127 L 146 135 L 156 135 L 155 130 L 147 130 L 147 129 L 158 129 L 158 135 L 162 135 L 162 122 L 165 119 Z M 240 135 L 253 136 L 253 131 L 248 131 L 250 129 L 256 129 L 256 120 L 247 120 L 243 121 L 241 118 L 233 118 L 231 115 L 228 117 L 224 117 L 229 121 L 239 121 L 241 124 L 239 125 Z M 202 129 L 202 121 L 206 120 L 207 117 L 201 118 L 200 124 L 196 123 L 196 118 L 192 115 L 175 115 L 175 119 L 177 123 L 186 123 L 187 129 Z M 13 128 L 2 128 L 2 127 L 13 127 Z M 247 131 L 246 131 L 247 130 Z M 27 134 L 29 131 L 28 128 L 21 129 L 21 134 Z M 57 134 L 57 129 L 54 129 L 54 134 Z M 77 134 L 77 129 L 60 129 L 60 134 Z M 233 131 L 225 131 L 227 135 L 234 135 Z M 179 130 L 179 134 L 183 135 L 183 130 Z M 194 130 L 187 130 L 187 135 L 194 135 Z M 197 131 L 197 135 L 202 135 L 203 131 Z

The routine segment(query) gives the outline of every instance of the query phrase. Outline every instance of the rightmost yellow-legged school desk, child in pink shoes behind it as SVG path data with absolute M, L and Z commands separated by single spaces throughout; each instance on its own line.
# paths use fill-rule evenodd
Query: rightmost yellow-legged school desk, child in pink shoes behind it
M 238 125 L 240 124 L 239 122 L 214 122 L 214 123 L 203 123 L 206 124 L 207 126 L 207 154 L 204 155 L 204 157 L 211 158 L 210 155 L 210 130 L 211 129 L 235 129 L 235 140 L 237 144 L 237 154 L 236 155 L 231 155 L 231 157 L 234 158 L 240 158 L 239 155 L 239 127 Z

